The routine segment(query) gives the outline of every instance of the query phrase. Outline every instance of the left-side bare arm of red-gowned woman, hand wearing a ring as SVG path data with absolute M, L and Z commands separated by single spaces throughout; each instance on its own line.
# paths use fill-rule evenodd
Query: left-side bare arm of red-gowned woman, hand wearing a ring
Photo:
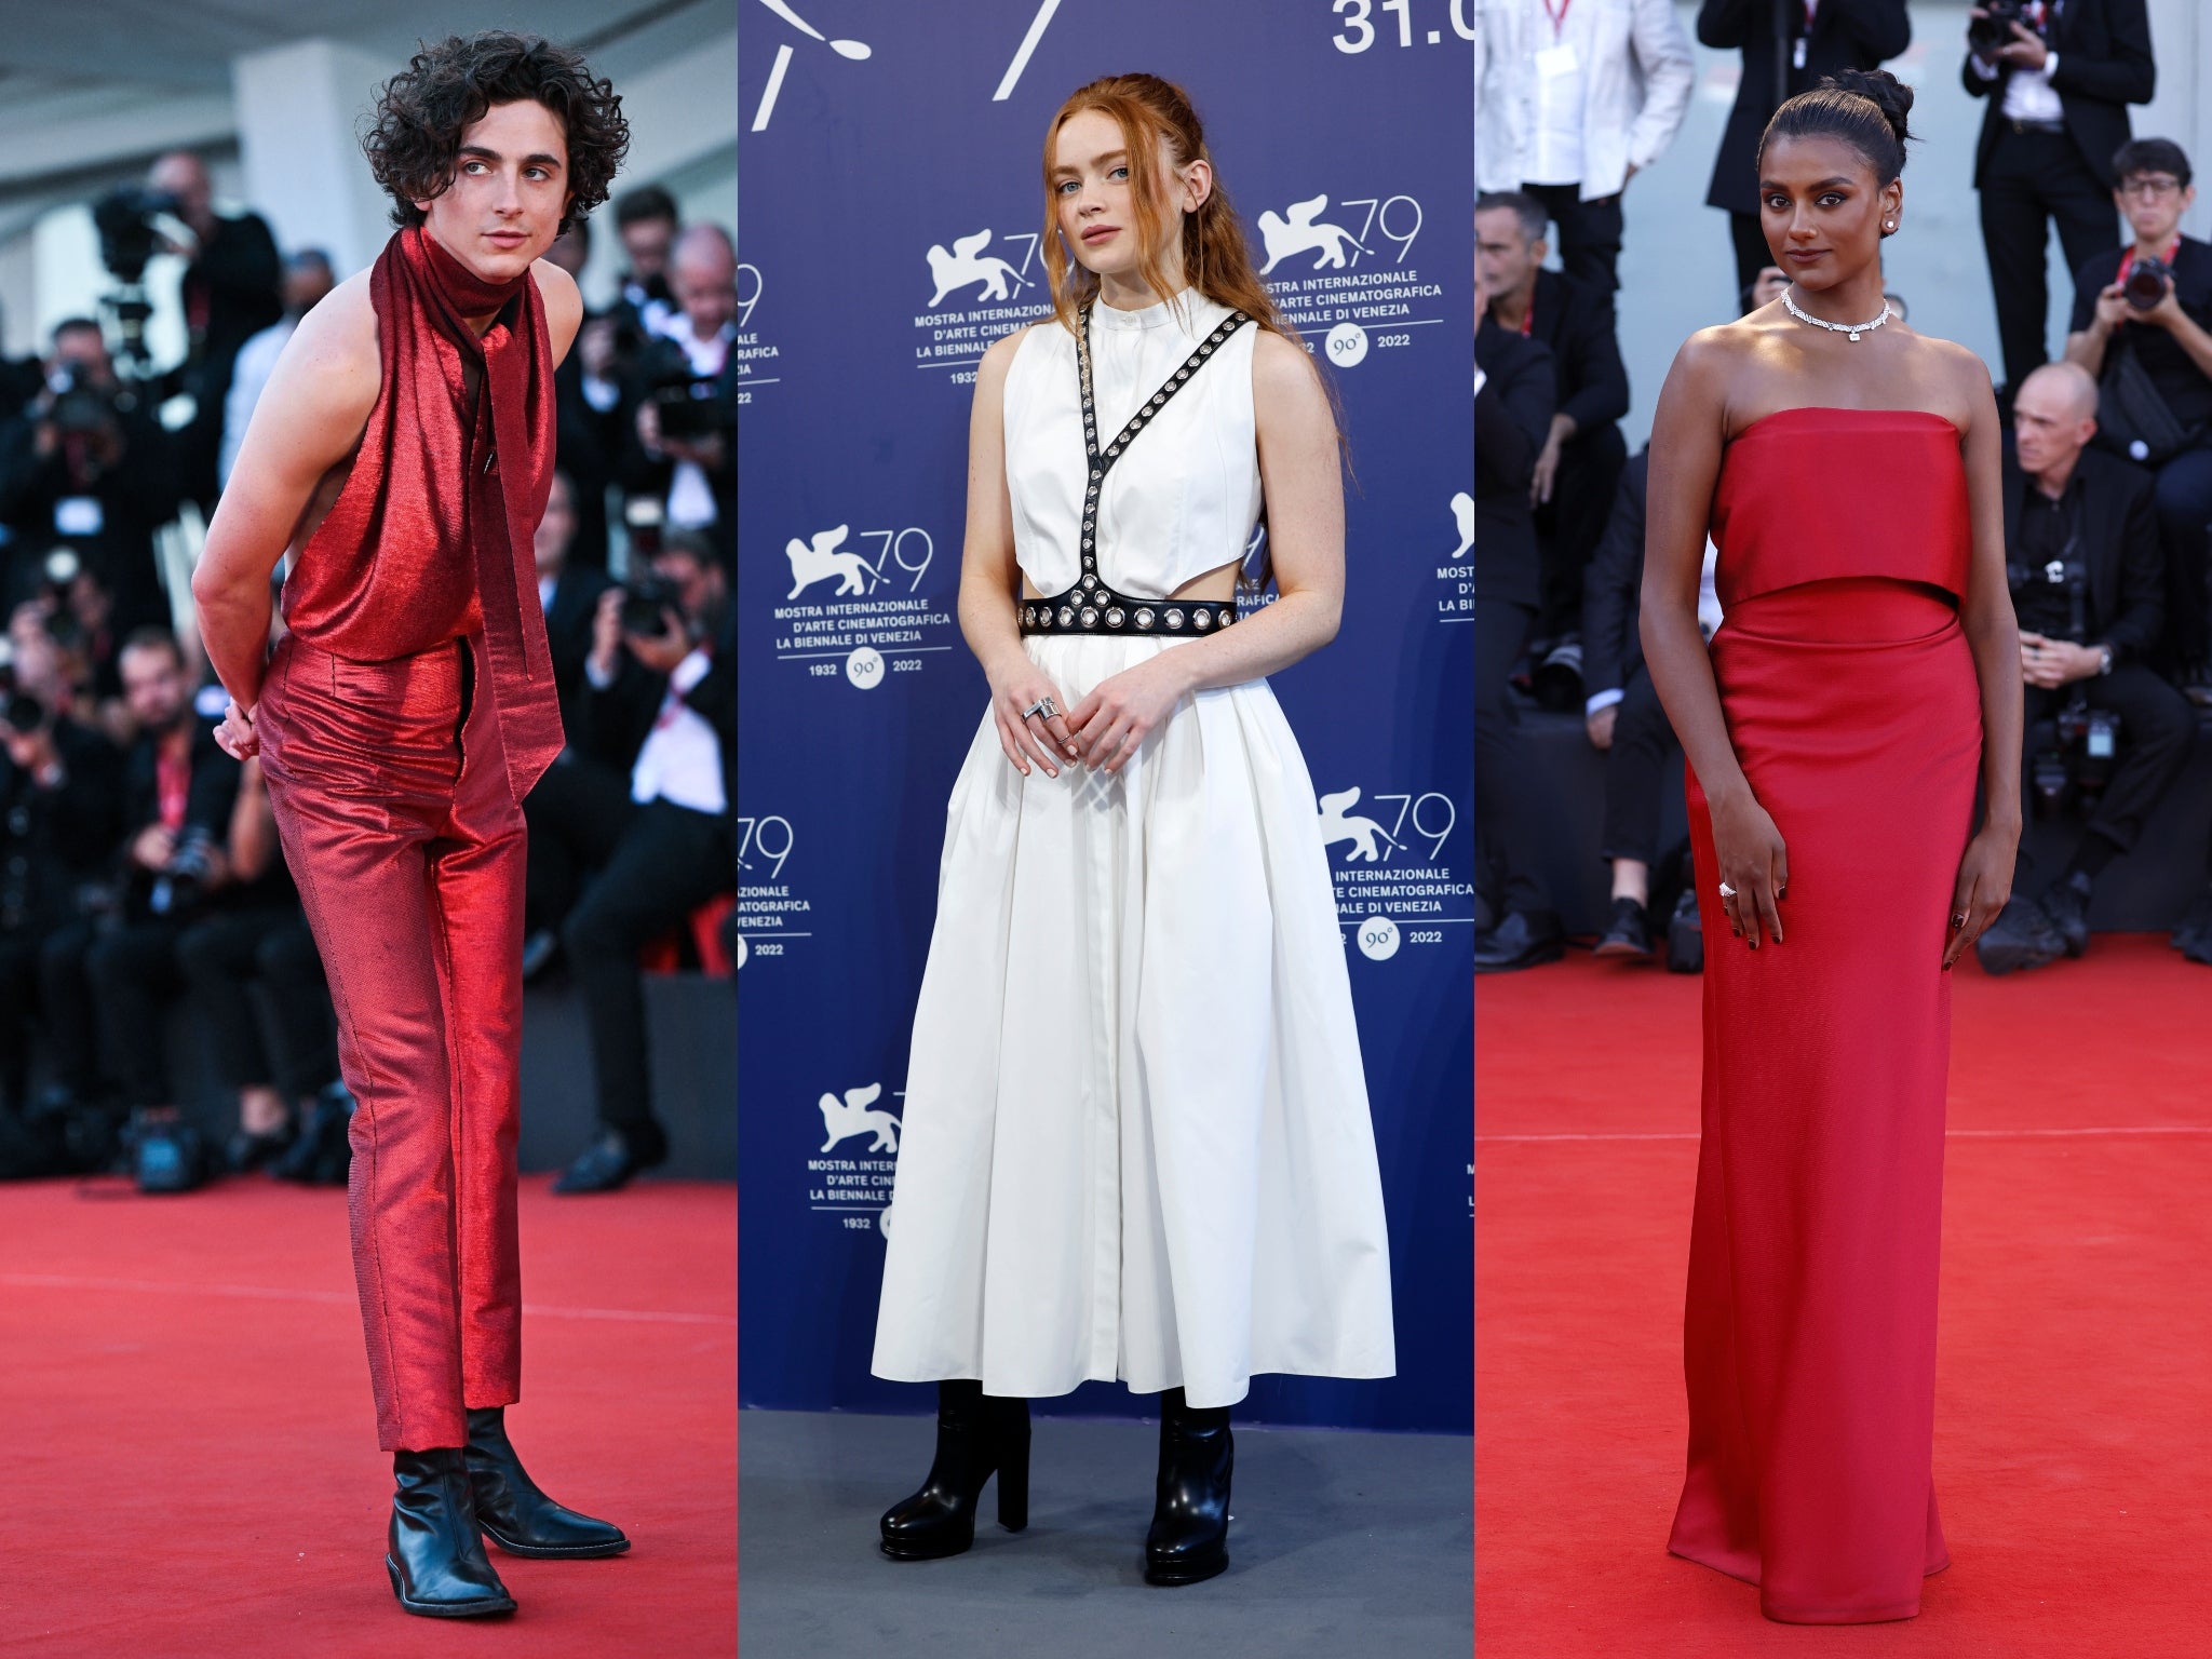
M 1697 577 L 1705 562 L 1712 489 L 1728 436 L 1730 352 L 1717 330 L 1683 341 L 1652 411 L 1650 480 L 1644 511 L 1644 666 L 1666 703 L 1683 754 L 1712 812 L 1712 849 L 1728 925 L 1754 951 L 1761 931 L 1783 940 L 1778 900 L 1790 887 L 1790 849 L 1736 761 L 1721 714 L 1712 657 L 1697 630 Z M 1712 902 L 1699 894 L 1701 905 Z

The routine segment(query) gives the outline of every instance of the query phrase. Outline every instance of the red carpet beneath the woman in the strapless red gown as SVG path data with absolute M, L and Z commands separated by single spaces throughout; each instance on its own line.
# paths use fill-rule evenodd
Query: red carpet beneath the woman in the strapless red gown
M 1969 960 L 1953 1006 L 1936 1391 L 1953 1566 L 1918 1619 L 1805 1628 L 1666 1553 L 1699 982 L 1584 953 L 1480 982 L 1484 1659 L 2212 1652 L 2212 969 L 2099 933 L 2008 980 Z

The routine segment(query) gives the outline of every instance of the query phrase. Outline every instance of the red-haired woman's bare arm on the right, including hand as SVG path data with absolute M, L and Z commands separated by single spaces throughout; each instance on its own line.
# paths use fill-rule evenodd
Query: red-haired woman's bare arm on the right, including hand
M 1086 765 L 1119 772 L 1190 692 L 1261 679 L 1336 637 L 1345 611 L 1336 416 L 1312 358 L 1281 334 L 1261 332 L 1252 343 L 1252 418 L 1276 599 L 1228 633 L 1161 650 L 1099 681 L 1068 717 Z

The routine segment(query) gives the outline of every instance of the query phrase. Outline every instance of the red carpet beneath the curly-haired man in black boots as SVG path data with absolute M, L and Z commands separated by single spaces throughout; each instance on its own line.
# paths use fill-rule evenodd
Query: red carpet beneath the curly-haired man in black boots
M 513 1619 L 400 1613 L 345 1194 L 0 1186 L 0 1652 L 336 1659 L 737 1646 L 737 1194 L 522 1183 L 531 1473 L 633 1540 L 493 1551 Z

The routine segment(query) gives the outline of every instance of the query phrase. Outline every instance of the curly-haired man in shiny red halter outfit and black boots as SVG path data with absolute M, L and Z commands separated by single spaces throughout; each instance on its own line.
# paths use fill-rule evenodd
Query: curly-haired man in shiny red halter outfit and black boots
M 546 1498 L 507 1438 L 522 1391 L 515 1130 L 522 796 L 562 745 L 533 538 L 553 369 L 584 301 L 544 259 L 606 201 L 615 88 L 511 33 L 422 49 L 363 139 L 398 232 L 270 374 L 192 575 L 261 754 L 338 1013 L 354 1279 L 385 1568 L 409 1613 L 513 1613 L 484 1557 L 628 1548 Z M 270 571 L 292 549 L 288 633 Z

